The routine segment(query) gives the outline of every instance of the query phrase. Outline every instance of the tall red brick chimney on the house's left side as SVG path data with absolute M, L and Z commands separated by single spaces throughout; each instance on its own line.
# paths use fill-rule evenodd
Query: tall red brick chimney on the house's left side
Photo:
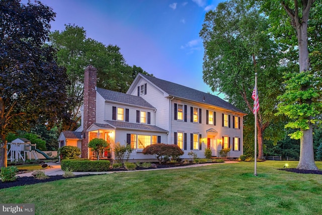
M 82 158 L 88 158 L 89 134 L 86 131 L 96 121 L 96 82 L 97 69 L 88 65 L 84 74 L 84 119 Z

